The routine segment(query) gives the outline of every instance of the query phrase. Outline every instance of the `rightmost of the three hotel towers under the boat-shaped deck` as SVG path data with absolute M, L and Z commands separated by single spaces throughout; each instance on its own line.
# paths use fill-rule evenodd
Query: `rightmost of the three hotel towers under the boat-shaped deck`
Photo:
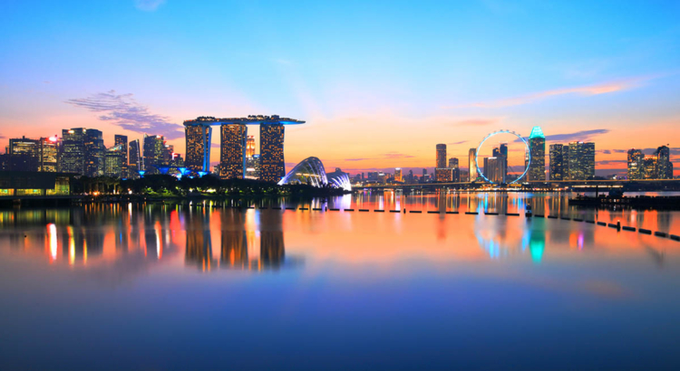
M 259 126 L 260 179 L 275 182 L 286 176 L 284 162 L 283 124 L 262 124 Z

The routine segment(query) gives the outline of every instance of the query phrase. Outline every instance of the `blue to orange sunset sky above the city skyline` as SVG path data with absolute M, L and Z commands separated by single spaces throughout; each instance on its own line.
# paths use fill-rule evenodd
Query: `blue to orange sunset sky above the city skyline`
M 419 174 L 438 143 L 466 167 L 488 133 L 539 126 L 594 141 L 599 175 L 662 145 L 680 175 L 678 19 L 677 1 L 4 0 L 0 152 L 98 128 L 183 154 L 186 119 L 277 114 L 306 120 L 288 168 Z

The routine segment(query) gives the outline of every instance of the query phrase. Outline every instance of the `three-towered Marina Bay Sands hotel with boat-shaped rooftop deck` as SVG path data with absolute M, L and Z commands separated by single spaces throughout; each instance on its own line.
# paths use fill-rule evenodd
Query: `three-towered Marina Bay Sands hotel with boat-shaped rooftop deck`
M 246 174 L 248 125 L 259 125 L 260 176 L 267 182 L 278 182 L 286 176 L 284 161 L 284 129 L 286 125 L 304 124 L 297 119 L 272 116 L 216 119 L 199 117 L 184 121 L 187 154 L 184 165 L 189 171 L 208 173 L 212 127 L 219 125 L 219 177 L 242 179 Z

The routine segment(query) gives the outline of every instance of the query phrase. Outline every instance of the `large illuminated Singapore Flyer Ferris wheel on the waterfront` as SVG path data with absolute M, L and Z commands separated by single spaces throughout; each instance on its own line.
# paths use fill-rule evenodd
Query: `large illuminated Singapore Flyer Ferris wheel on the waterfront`
M 481 168 L 480 168 L 479 157 L 480 157 L 480 154 L 481 154 L 482 147 L 484 146 L 484 142 L 486 142 L 487 140 L 489 140 L 492 137 L 503 135 L 503 134 L 508 134 L 510 136 L 516 137 L 517 140 L 515 140 L 515 142 L 523 143 L 524 149 L 525 149 L 524 153 L 525 153 L 526 157 L 525 157 L 524 170 L 523 170 L 523 172 L 521 172 L 520 176 L 517 176 L 514 180 L 511 180 L 510 182 L 505 181 L 505 176 L 508 172 L 508 169 L 507 169 L 507 166 L 508 166 L 508 158 L 507 158 L 508 148 L 507 148 L 507 145 L 505 145 L 504 153 L 503 153 L 502 146 L 501 146 L 500 150 L 494 148 L 494 154 L 498 153 L 500 155 L 500 158 L 484 157 L 483 158 L 484 159 L 484 162 L 483 162 L 484 171 L 482 171 Z M 493 162 L 487 161 L 487 160 L 490 160 L 490 159 L 493 159 L 494 161 Z M 491 183 L 492 185 L 499 185 L 499 184 L 502 184 L 502 183 L 506 183 L 506 184 L 519 183 L 520 180 L 523 179 L 525 176 L 527 176 L 527 173 L 529 172 L 529 165 L 531 164 L 531 151 L 529 150 L 529 143 L 527 143 L 527 140 L 525 138 L 522 138 L 522 136 L 520 136 L 520 134 L 517 134 L 514 131 L 511 131 L 511 130 L 494 131 L 494 132 L 490 133 L 489 135 L 487 135 L 486 137 L 484 137 L 483 139 L 481 139 L 480 145 L 477 147 L 477 150 L 475 151 L 474 163 L 475 163 L 475 166 L 477 167 L 477 174 L 479 176 L 481 176 L 481 178 L 484 179 L 484 181 L 486 181 L 487 183 Z M 502 174 L 500 174 L 500 173 L 502 173 Z

